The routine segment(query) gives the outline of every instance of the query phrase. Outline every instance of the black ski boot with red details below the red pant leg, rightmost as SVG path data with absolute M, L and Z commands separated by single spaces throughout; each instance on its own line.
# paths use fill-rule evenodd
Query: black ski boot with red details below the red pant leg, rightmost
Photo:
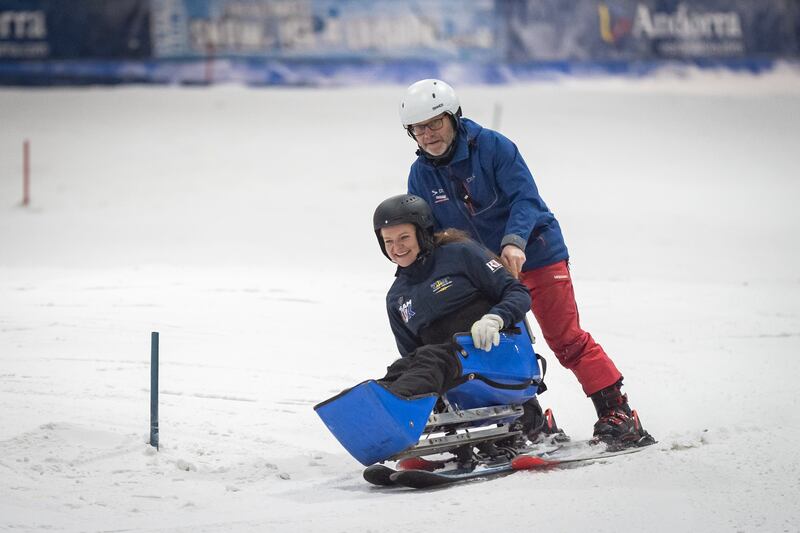
M 628 395 L 622 394 L 621 387 L 622 380 L 619 380 L 590 396 L 598 417 L 594 424 L 594 441 L 617 450 L 655 443 L 639 422 L 639 415 L 628 405 Z

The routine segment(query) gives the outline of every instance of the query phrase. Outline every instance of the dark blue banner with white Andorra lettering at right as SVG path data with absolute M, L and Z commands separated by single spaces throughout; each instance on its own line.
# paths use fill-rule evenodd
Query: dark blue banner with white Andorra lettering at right
M 798 53 L 791 0 L 498 0 L 506 59 L 647 61 Z

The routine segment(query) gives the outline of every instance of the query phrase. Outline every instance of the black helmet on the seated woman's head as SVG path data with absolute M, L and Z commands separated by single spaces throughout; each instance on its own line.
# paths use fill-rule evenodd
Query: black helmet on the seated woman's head
M 386 253 L 386 246 L 383 244 L 381 228 L 398 224 L 416 226 L 421 253 L 427 253 L 433 248 L 433 212 L 425 200 L 413 194 L 398 194 L 387 198 L 375 209 L 372 226 L 381 251 L 386 257 L 389 257 L 389 254 Z

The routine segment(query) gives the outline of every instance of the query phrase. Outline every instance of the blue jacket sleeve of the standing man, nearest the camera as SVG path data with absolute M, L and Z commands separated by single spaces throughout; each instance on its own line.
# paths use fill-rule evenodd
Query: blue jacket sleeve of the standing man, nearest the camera
M 492 133 L 495 179 L 500 191 L 511 204 L 500 246 L 513 244 L 524 250 L 531 232 L 542 215 L 547 213 L 547 208 L 517 146 L 507 137 L 497 132 Z

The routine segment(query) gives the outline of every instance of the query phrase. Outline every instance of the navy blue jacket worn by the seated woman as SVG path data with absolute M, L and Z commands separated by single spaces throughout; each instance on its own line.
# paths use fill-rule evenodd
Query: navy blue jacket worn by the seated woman
M 472 241 L 436 247 L 408 267 L 398 268 L 396 276 L 386 307 L 403 356 L 469 331 L 486 313 L 513 326 L 531 306 L 528 289 Z

